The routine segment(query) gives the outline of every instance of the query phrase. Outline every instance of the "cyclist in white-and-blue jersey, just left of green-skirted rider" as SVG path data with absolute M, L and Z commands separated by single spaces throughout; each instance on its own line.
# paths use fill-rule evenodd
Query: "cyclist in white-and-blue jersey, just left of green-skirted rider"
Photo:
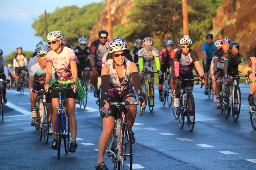
M 28 82 L 28 87 L 29 87 L 29 95 L 30 95 L 30 102 L 31 102 L 31 116 L 32 116 L 32 121 L 31 121 L 31 126 L 35 126 L 35 118 L 36 118 L 36 102 L 37 102 L 37 97 L 38 93 L 33 92 L 39 91 L 43 89 L 43 85 L 45 84 L 45 75 L 46 75 L 46 54 L 47 54 L 46 49 L 41 49 L 38 50 L 37 56 L 38 56 L 38 63 L 35 63 L 34 65 L 31 66 L 29 70 L 29 82 Z M 53 70 L 53 74 L 54 74 Z M 52 103 L 51 103 L 51 96 L 50 93 L 46 95 L 46 102 L 47 102 L 47 108 L 48 108 L 48 119 L 49 119 L 49 135 L 52 136 L 53 134 L 53 129 L 51 128 L 51 123 L 52 123 Z

